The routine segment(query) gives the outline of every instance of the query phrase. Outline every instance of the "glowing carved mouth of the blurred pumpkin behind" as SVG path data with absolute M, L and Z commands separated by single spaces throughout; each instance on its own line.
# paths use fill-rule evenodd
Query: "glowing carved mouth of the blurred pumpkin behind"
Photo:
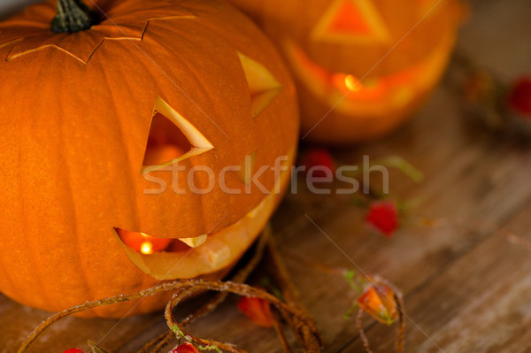
M 296 78 L 313 96 L 345 114 L 373 115 L 375 111 L 407 106 L 419 92 L 432 88 L 446 65 L 451 45 L 447 35 L 424 60 L 399 72 L 363 81 L 350 73 L 333 72 L 317 64 L 295 42 L 287 40 L 283 48 Z

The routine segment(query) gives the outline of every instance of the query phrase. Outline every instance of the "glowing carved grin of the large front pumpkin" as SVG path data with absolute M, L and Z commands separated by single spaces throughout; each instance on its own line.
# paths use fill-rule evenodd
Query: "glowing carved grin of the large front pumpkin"
M 289 151 L 289 162 L 295 157 Z M 151 234 L 114 228 L 114 235 L 127 257 L 156 280 L 189 279 L 233 265 L 248 249 L 273 214 L 281 186 L 289 173 L 281 173 L 272 192 L 235 224 L 213 234 L 178 239 L 156 238 Z

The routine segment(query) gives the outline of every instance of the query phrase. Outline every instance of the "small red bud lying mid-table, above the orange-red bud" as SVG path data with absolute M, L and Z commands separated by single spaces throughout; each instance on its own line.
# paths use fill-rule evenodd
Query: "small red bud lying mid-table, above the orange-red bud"
M 371 203 L 366 215 L 366 223 L 377 232 L 390 238 L 400 226 L 396 203 L 394 201 Z

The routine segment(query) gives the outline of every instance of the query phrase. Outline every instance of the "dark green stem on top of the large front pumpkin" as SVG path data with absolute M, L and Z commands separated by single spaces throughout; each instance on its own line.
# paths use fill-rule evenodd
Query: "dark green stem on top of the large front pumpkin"
M 97 13 L 83 0 L 58 0 L 57 15 L 51 20 L 51 30 L 55 33 L 75 33 L 99 22 Z

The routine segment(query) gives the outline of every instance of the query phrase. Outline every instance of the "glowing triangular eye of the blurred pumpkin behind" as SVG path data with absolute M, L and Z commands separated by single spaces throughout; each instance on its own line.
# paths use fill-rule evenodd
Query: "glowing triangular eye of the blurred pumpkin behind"
M 372 0 L 336 0 L 313 28 L 323 42 L 388 42 L 389 33 Z

